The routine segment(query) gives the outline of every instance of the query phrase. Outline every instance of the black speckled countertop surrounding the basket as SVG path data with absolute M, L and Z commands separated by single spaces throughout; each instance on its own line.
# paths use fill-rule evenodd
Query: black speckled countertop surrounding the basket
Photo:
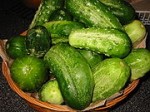
M 28 26 L 35 9 L 30 9 L 18 0 L 0 0 L 0 38 L 9 39 L 18 35 Z M 150 26 L 146 26 L 150 34 Z M 150 49 L 150 35 L 147 49 Z M 2 60 L 0 59 L 0 62 Z M 141 78 L 138 87 L 110 112 L 150 112 L 150 72 Z M 27 103 L 14 93 L 0 72 L 0 112 L 35 112 Z

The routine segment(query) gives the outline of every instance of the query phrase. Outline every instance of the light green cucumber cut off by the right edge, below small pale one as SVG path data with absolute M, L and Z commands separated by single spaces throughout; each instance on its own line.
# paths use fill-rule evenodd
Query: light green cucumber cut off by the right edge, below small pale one
M 131 81 L 143 77 L 150 71 L 150 51 L 148 49 L 133 49 L 124 60 L 131 68 Z

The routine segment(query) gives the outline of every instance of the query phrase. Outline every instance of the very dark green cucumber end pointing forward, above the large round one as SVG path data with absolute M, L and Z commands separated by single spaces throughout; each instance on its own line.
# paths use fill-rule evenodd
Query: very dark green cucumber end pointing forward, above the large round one
M 29 55 L 43 57 L 51 47 L 51 37 L 44 26 L 35 26 L 28 30 L 26 46 Z

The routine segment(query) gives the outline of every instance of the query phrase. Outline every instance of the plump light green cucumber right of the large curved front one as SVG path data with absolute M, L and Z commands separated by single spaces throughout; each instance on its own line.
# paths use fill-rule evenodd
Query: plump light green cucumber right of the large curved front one
M 108 58 L 93 70 L 95 87 L 93 102 L 104 100 L 119 92 L 130 77 L 130 67 L 120 58 Z

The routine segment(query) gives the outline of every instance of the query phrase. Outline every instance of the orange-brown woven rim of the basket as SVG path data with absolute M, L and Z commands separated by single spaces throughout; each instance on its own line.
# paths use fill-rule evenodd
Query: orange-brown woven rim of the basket
M 16 84 L 15 82 L 12 80 L 11 78 L 11 74 L 10 74 L 10 70 L 8 67 L 8 63 L 6 61 L 3 60 L 2 62 L 2 72 L 4 77 L 6 78 L 9 86 L 11 87 L 11 89 L 16 92 L 20 97 L 22 97 L 23 99 L 25 99 L 26 101 L 43 107 L 43 108 L 47 108 L 47 109 L 52 109 L 52 110 L 56 110 L 56 111 L 74 111 L 73 109 L 71 109 L 70 107 L 68 107 L 67 105 L 56 105 L 56 104 L 50 104 L 47 102 L 42 102 L 36 98 L 33 98 L 32 96 L 30 96 L 28 93 L 23 92 Z M 125 99 L 128 94 L 130 94 L 139 84 L 140 79 L 134 80 L 132 81 L 123 91 L 123 94 L 119 97 L 114 98 L 113 100 L 110 100 L 108 102 L 106 102 L 105 106 L 100 106 L 95 108 L 95 110 L 104 110 L 107 108 L 111 108 L 112 106 L 114 106 L 115 104 L 117 104 L 118 102 L 122 101 L 123 99 Z

